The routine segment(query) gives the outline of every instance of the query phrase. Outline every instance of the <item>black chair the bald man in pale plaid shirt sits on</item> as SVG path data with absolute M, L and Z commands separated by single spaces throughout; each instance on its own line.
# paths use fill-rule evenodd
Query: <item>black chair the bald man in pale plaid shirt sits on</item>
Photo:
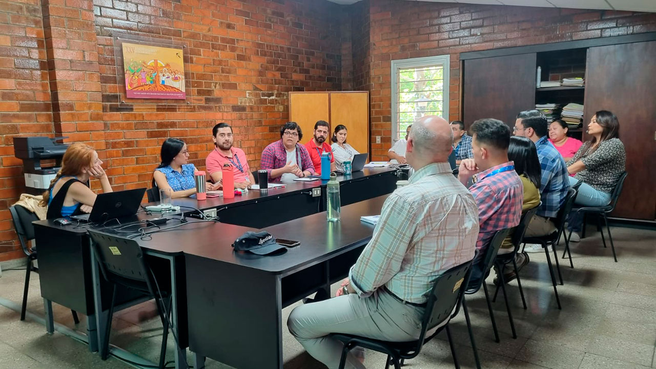
M 455 353 L 455 347 L 453 347 L 453 339 L 451 339 L 449 320 L 458 315 L 460 302 L 462 301 L 462 293 L 469 281 L 471 265 L 471 261 L 457 265 L 448 271 L 445 271 L 435 281 L 430 295 L 428 295 L 428 301 L 426 301 L 426 309 L 421 324 L 421 333 L 417 341 L 388 342 L 350 334 L 332 334 L 332 337 L 335 337 L 344 343 L 339 369 L 344 369 L 348 351 L 356 346 L 378 351 L 379 353 L 386 353 L 387 360 L 385 369 L 390 367 L 390 363 L 394 365 L 395 369 L 400 369 L 403 360 L 406 358 L 417 357 L 422 346 L 433 337 L 437 336 L 443 329 L 446 330 L 447 337 L 449 338 L 453 363 L 456 368 L 460 368 Z M 442 324 L 444 322 L 445 324 Z M 440 324 L 442 325 L 440 326 Z M 440 328 L 429 337 L 426 337 L 426 332 L 434 329 L 436 326 L 440 326 Z

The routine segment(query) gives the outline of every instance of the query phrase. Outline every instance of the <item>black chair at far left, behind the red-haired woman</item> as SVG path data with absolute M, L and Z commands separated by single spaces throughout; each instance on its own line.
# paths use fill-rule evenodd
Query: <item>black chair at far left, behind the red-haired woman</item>
M 14 223 L 16 234 L 18 234 L 18 242 L 20 242 L 20 247 L 23 249 L 25 255 L 28 256 L 28 263 L 25 269 L 26 272 L 25 287 L 23 289 L 23 304 L 20 308 L 20 320 L 25 320 L 25 312 L 28 307 L 30 273 L 39 272 L 39 269 L 34 267 L 34 261 L 37 259 L 37 251 L 34 248 L 28 248 L 28 242 L 34 239 L 34 226 L 32 225 L 32 222 L 38 221 L 39 217 L 37 217 L 35 213 L 32 213 L 20 205 L 9 207 L 9 212 L 11 213 L 11 219 Z M 71 313 L 73 314 L 73 322 L 75 322 L 75 324 L 79 324 L 80 320 L 77 318 L 77 313 L 73 310 L 71 310 Z

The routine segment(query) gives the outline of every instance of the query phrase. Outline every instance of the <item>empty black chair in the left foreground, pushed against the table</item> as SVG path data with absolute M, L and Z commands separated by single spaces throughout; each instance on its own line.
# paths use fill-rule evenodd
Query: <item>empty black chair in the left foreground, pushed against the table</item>
M 106 360 L 109 355 L 116 286 L 121 285 L 148 293 L 150 297 L 155 299 L 157 313 L 159 313 L 163 325 L 162 345 L 159 354 L 159 368 L 163 369 L 165 367 L 167 337 L 169 336 L 167 313 L 171 311 L 171 293 L 168 290 L 160 290 L 160 285 L 155 281 L 155 276 L 144 259 L 144 253 L 135 240 L 95 230 L 89 230 L 89 235 L 91 236 L 91 244 L 96 253 L 100 272 L 102 272 L 105 280 L 112 284 L 112 302 L 107 317 L 104 345 L 100 347 L 100 357 L 102 360 Z

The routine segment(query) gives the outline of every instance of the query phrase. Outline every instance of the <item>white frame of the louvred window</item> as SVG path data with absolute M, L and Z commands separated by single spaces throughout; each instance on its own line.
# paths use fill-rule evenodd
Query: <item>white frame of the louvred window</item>
M 409 58 L 392 60 L 392 144 L 398 141 L 399 137 L 399 70 L 408 68 L 420 68 L 426 66 L 441 65 L 442 70 L 442 118 L 449 120 L 449 70 L 451 68 L 450 55 L 425 56 L 422 58 Z

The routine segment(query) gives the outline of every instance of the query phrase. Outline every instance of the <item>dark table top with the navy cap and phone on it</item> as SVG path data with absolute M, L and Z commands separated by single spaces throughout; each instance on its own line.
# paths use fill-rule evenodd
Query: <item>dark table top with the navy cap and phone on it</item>
M 276 238 L 300 242 L 299 246 L 289 248 L 279 255 L 260 256 L 234 251 L 232 242 L 236 238 L 243 232 L 258 230 L 222 223 L 188 224 L 174 231 L 155 233 L 152 240 L 139 243 L 156 252 L 173 253 L 182 250 L 186 255 L 285 274 L 368 242 L 374 226 L 360 221 L 360 217 L 380 214 L 387 196 L 342 207 L 341 220 L 337 223 L 328 222 L 326 213 L 321 212 L 262 229 Z

